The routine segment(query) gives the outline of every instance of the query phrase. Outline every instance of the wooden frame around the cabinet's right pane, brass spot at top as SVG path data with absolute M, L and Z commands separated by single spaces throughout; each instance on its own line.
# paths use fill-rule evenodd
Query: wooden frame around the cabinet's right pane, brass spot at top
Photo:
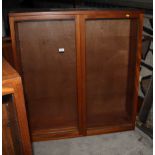
M 130 47 L 129 47 L 129 65 L 128 65 L 128 75 L 134 76 L 134 79 L 131 79 L 131 76 L 128 77 L 128 83 L 131 82 L 132 86 L 127 84 L 127 96 L 126 96 L 126 106 L 130 104 L 128 101 L 130 96 L 128 95 L 130 90 L 133 90 L 132 94 L 132 120 L 131 123 L 126 123 L 123 125 L 115 125 L 115 126 L 109 126 L 109 127 L 92 127 L 88 128 L 86 126 L 87 124 L 87 104 L 86 103 L 86 20 L 97 20 L 97 19 L 129 19 L 130 21 Z M 85 109 L 85 131 L 86 135 L 96 135 L 96 134 L 103 134 L 103 133 L 109 133 L 109 132 L 117 132 L 117 131 L 124 131 L 124 130 L 130 130 L 135 128 L 135 120 L 136 120 L 136 114 L 137 114 L 137 102 L 138 102 L 138 90 L 139 90 L 139 73 L 140 73 L 140 63 L 141 63 L 141 50 L 142 50 L 142 31 L 143 31 L 143 14 L 138 14 L 134 15 L 131 13 L 121 13 L 121 14 L 101 14 L 101 15 L 96 15 L 96 14 L 89 14 L 89 15 L 84 15 L 82 18 L 82 28 L 81 32 L 84 34 L 82 36 L 82 41 L 81 44 L 83 45 L 82 47 L 82 59 L 83 60 L 83 88 L 84 88 L 84 104 L 83 107 Z M 136 34 L 136 35 L 135 35 Z M 135 42 L 136 40 L 136 42 Z M 135 50 L 136 49 L 136 50 Z M 134 53 L 136 52 L 136 53 Z M 134 60 L 132 60 L 132 58 Z M 132 64 L 132 61 L 134 62 L 134 66 L 132 66 L 132 69 L 129 69 L 129 67 Z M 132 80 L 132 81 L 131 81 Z

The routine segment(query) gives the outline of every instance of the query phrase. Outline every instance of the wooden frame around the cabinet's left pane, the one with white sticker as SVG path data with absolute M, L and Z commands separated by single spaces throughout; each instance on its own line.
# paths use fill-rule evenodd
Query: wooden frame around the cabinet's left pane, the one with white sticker
M 38 141 L 38 140 L 45 140 L 45 139 L 49 139 L 49 138 L 56 138 L 57 137 L 75 137 L 78 135 L 82 135 L 82 128 L 81 128 L 81 106 L 79 103 L 79 98 L 80 98 L 80 91 L 78 89 L 78 87 L 80 87 L 80 50 L 78 50 L 78 45 L 79 45 L 79 35 L 78 35 L 78 27 L 76 22 L 78 22 L 78 18 L 75 15 L 44 15 L 44 16 L 40 16 L 40 15 L 36 15 L 36 16 L 22 16 L 22 17 L 10 17 L 10 26 L 11 29 L 15 30 L 16 28 L 16 22 L 20 22 L 20 21 L 46 21 L 46 20 L 75 20 L 75 47 L 76 47 L 76 70 L 78 70 L 78 72 L 76 71 L 76 76 L 77 76 L 77 114 L 78 114 L 78 128 L 64 128 L 63 131 L 60 129 L 58 130 L 38 130 L 38 131 L 34 131 L 32 132 L 32 140 L 34 141 Z M 16 40 L 16 36 L 15 36 L 15 31 L 11 31 L 11 36 L 12 36 L 12 44 L 13 44 L 13 52 L 14 52 L 14 62 L 15 62 L 15 66 L 16 69 L 18 70 L 18 72 L 22 74 L 22 63 L 21 63 L 21 58 L 20 58 L 20 53 L 18 53 L 17 49 L 17 40 Z M 22 78 L 24 78 L 22 76 Z M 24 80 L 23 80 L 24 81 Z M 24 83 L 23 83 L 24 85 Z M 51 134 L 52 133 L 52 134 Z

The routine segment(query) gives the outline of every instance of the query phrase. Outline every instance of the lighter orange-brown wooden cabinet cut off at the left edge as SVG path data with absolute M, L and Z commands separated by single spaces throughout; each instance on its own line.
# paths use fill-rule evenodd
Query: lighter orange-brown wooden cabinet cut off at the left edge
M 5 59 L 2 67 L 3 155 L 32 155 L 21 77 Z

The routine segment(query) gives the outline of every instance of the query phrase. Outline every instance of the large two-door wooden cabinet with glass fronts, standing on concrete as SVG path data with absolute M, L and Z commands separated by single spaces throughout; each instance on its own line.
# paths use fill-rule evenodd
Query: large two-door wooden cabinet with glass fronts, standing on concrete
M 140 11 L 10 14 L 34 141 L 134 128 L 142 21 Z

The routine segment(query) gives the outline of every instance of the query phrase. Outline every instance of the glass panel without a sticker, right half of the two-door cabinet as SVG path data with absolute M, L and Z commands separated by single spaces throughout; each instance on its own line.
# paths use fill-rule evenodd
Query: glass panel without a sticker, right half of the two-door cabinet
M 137 43 L 134 23 L 130 19 L 86 20 L 88 129 L 132 127 Z

